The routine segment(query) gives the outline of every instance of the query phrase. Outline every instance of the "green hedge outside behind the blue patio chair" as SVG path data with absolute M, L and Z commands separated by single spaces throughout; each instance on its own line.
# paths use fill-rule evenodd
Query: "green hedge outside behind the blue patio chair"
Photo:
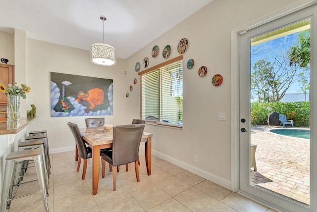
M 267 125 L 268 114 L 273 111 L 286 115 L 286 119 L 294 120 L 296 127 L 310 126 L 310 102 L 251 103 L 251 124 Z

